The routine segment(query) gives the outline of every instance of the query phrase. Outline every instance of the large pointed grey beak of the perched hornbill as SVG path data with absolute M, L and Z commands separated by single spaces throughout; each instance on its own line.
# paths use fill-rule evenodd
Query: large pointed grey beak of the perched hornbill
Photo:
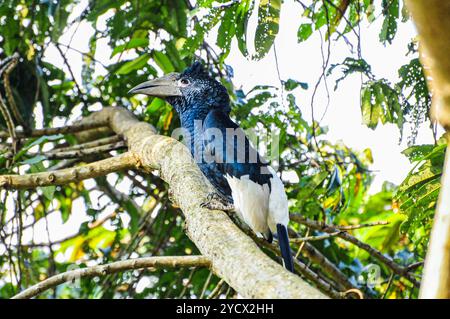
M 181 90 L 177 82 L 178 75 L 178 73 L 170 73 L 163 77 L 141 83 L 128 91 L 128 93 L 141 93 L 160 98 L 181 96 Z

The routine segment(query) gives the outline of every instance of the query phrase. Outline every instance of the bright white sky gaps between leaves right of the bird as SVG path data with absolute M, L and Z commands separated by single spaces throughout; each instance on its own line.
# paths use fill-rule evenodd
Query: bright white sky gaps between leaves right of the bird
M 281 79 L 289 78 L 307 82 L 309 89 L 297 93 L 297 101 L 301 105 L 302 113 L 306 119 L 311 119 L 311 96 L 315 83 L 322 72 L 322 56 L 320 51 L 320 35 L 315 32 L 306 42 L 297 43 L 298 26 L 302 21 L 300 4 L 285 1 L 281 10 L 280 30 L 276 38 L 276 49 Z M 254 34 L 256 16 L 251 18 L 248 35 Z M 253 23 L 252 23 L 253 22 Z M 412 22 L 401 23 L 392 45 L 384 46 L 378 40 L 378 34 L 383 20 L 361 26 L 361 48 L 363 58 L 371 65 L 372 72 L 377 78 L 384 77 L 392 82 L 398 80 L 397 70 L 408 63 L 410 56 L 406 57 L 407 45 L 416 36 Z M 354 38 L 350 37 L 354 40 Z M 352 41 L 355 45 L 356 41 Z M 326 44 L 324 45 L 326 53 Z M 332 41 L 330 65 L 342 62 L 346 57 L 352 56 L 349 47 L 343 40 Z M 353 55 L 354 57 L 355 55 Z M 242 85 L 244 90 L 251 89 L 256 84 L 271 84 L 279 86 L 276 63 L 273 50 L 261 61 L 248 61 L 241 55 L 234 42 L 233 50 L 227 61 L 235 73 L 234 83 Z M 328 126 L 327 138 L 330 141 L 343 141 L 355 150 L 370 148 L 374 157 L 371 169 L 376 171 L 376 177 L 371 187 L 371 193 L 381 189 L 384 181 L 399 184 L 407 175 L 411 165 L 401 154 L 406 145 L 408 132 L 399 144 L 399 130 L 394 124 L 379 125 L 371 130 L 362 124 L 359 106 L 359 75 L 349 76 L 340 82 L 337 91 L 333 91 L 335 80 L 341 75 L 339 70 L 328 79 L 330 91 L 330 105 L 321 125 Z M 316 94 L 314 102 L 315 119 L 324 114 L 327 104 L 326 91 L 322 85 Z M 427 125 L 421 128 L 417 143 L 433 143 L 431 130 Z

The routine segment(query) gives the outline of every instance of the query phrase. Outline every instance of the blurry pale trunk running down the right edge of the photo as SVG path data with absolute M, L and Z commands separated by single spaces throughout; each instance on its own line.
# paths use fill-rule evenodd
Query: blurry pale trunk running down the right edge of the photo
M 433 100 L 431 115 L 447 130 L 450 145 L 450 2 L 408 0 L 420 35 L 421 61 Z M 450 298 L 450 146 L 425 260 L 421 298 Z

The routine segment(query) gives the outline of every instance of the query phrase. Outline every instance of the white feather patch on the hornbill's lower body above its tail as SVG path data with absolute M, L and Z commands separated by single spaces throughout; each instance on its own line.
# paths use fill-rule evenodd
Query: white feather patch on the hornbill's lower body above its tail
M 288 200 L 284 185 L 272 167 L 271 189 L 268 184 L 259 185 L 248 175 L 240 178 L 226 175 L 231 188 L 234 207 L 241 218 L 255 233 L 277 232 L 277 224 L 289 222 Z

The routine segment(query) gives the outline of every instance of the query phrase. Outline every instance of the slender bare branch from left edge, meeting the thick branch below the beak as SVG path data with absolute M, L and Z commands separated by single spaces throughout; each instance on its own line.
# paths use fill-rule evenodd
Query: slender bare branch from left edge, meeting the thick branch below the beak
M 0 175 L 0 188 L 27 189 L 63 185 L 87 178 L 136 167 L 137 158 L 130 152 L 83 166 L 26 175 Z

